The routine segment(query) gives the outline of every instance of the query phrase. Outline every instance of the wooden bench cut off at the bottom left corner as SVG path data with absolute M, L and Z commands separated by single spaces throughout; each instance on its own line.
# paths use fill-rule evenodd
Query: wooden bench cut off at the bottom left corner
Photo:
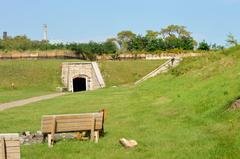
M 0 134 L 0 159 L 20 159 L 18 134 Z

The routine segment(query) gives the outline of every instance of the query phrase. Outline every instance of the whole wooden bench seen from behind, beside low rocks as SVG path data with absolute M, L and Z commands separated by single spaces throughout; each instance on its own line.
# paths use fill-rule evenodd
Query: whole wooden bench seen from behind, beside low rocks
M 96 113 L 44 115 L 41 130 L 44 138 L 48 136 L 48 145 L 55 141 L 55 133 L 90 131 L 91 141 L 98 142 L 99 133 L 104 132 L 105 110 Z

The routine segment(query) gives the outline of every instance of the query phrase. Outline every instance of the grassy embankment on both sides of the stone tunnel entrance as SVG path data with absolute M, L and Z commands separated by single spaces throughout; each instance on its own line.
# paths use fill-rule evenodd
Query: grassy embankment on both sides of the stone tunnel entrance
M 56 92 L 56 87 L 62 86 L 62 62 L 72 61 L 80 60 L 0 61 L 0 103 Z M 100 66 L 106 75 L 107 85 L 112 86 L 134 82 L 163 62 L 164 60 L 107 61 L 100 62 Z

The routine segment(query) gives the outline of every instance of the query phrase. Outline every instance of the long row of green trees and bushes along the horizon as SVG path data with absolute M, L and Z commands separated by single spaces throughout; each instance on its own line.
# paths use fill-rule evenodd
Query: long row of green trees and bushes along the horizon
M 232 38 L 232 37 L 231 37 Z M 55 43 L 31 40 L 27 36 L 7 37 L 0 39 L 0 50 L 72 50 L 79 54 L 116 54 L 122 52 L 158 52 L 158 51 L 192 51 L 219 50 L 222 46 L 210 45 L 206 41 L 199 44 L 192 33 L 184 26 L 170 25 L 160 31 L 148 30 L 145 35 L 137 35 L 132 31 L 121 31 L 116 37 L 105 42 L 88 43 Z

